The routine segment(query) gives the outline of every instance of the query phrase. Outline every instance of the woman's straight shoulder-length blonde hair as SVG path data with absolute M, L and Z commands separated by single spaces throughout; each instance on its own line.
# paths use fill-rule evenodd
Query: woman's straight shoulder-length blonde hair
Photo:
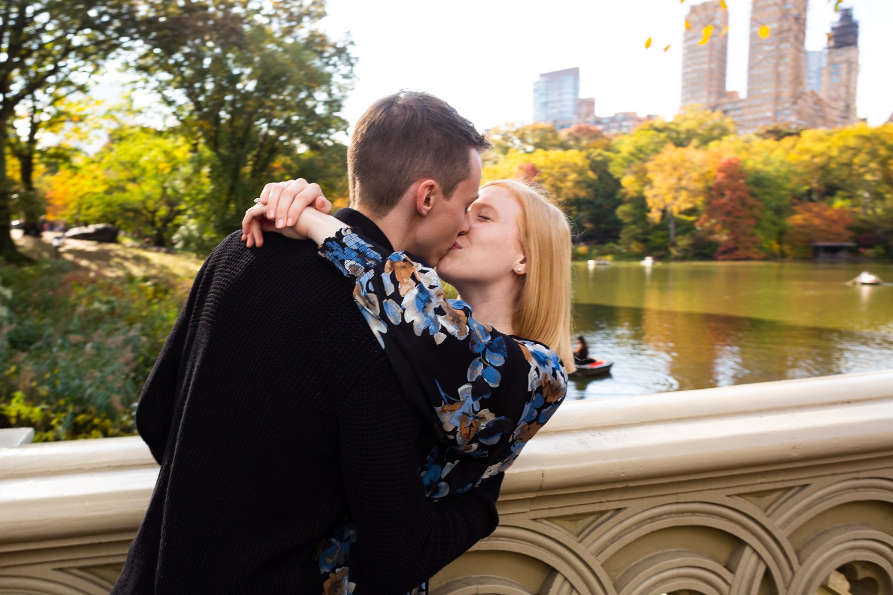
M 514 332 L 548 345 L 572 372 L 576 366 L 571 350 L 571 226 L 536 186 L 502 179 L 481 188 L 488 186 L 505 188 L 522 210 L 519 227 L 527 274 L 514 310 Z

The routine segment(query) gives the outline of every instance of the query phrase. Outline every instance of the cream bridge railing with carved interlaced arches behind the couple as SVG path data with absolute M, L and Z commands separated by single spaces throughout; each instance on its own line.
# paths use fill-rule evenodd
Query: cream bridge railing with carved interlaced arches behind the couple
M 0 449 L 0 593 L 106 593 L 138 438 Z M 893 595 L 893 371 L 568 402 L 432 595 Z

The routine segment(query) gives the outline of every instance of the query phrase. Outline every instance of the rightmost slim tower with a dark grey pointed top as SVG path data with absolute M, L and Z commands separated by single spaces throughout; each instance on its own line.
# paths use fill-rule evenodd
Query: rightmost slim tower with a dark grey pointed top
M 855 92 L 859 79 L 859 21 L 853 9 L 840 11 L 840 19 L 831 26 L 828 64 L 823 71 L 822 96 L 839 112 L 833 125 L 848 126 L 857 122 Z

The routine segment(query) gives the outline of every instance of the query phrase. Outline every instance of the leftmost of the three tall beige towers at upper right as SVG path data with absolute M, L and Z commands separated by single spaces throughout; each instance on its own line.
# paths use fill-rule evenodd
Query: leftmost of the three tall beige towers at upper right
M 682 107 L 700 104 L 714 109 L 725 97 L 729 12 L 719 0 L 691 7 L 682 42 Z M 713 26 L 709 43 L 701 44 L 705 27 Z

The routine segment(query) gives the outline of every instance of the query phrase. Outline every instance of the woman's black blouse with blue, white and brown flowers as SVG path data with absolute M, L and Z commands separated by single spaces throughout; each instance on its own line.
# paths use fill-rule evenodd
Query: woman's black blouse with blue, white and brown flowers
M 426 494 L 462 493 L 510 467 L 562 403 L 567 374 L 546 345 L 504 335 L 447 300 L 437 273 L 346 227 L 320 255 L 355 278 L 354 299 L 436 439 L 421 458 Z M 325 595 L 352 593 L 346 523 L 320 545 Z M 422 595 L 426 586 L 412 591 Z

